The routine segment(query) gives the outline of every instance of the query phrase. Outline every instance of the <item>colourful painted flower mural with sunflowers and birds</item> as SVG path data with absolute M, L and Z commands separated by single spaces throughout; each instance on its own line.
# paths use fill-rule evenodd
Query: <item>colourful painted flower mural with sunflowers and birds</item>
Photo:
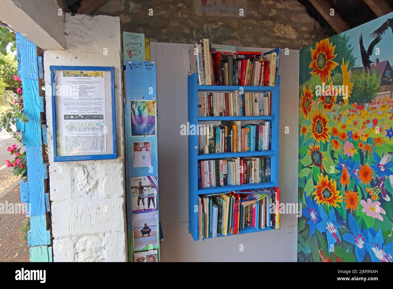
M 393 13 L 300 51 L 298 261 L 393 261 Z

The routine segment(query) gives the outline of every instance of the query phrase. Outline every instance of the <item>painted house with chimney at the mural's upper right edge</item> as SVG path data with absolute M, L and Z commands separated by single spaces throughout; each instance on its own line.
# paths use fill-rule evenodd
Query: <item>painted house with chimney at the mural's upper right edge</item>
M 375 57 L 374 63 L 371 64 L 370 68 L 371 73 L 378 73 L 380 75 L 380 97 L 386 96 L 387 98 L 391 98 L 391 92 L 393 90 L 393 69 L 389 60 L 379 61 L 379 58 Z M 355 70 L 365 71 L 364 67 L 351 67 L 351 73 Z

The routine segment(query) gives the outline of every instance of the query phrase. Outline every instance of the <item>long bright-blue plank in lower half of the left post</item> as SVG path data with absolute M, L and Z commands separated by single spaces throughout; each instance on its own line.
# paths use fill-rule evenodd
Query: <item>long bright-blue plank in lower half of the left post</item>
M 44 215 L 45 208 L 45 191 L 44 191 L 44 177 L 46 171 L 42 166 L 42 146 L 26 147 L 27 158 L 27 176 L 29 181 L 29 202 L 30 215 L 39 216 Z M 47 245 L 47 244 L 40 244 Z

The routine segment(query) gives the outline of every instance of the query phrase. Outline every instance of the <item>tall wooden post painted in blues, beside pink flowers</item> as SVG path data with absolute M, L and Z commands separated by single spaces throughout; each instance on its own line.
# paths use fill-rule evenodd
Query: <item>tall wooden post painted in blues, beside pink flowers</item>
M 46 212 L 49 212 L 49 195 L 45 193 L 46 164 L 42 161 L 43 138 L 46 142 L 46 126 L 41 125 L 43 99 L 39 94 L 39 78 L 42 78 L 41 57 L 37 58 L 37 46 L 16 33 L 18 75 L 22 79 L 24 113 L 28 122 L 17 121 L 26 147 L 27 180 L 20 182 L 20 201 L 27 204 L 27 216 L 31 229 L 28 232 L 30 260 L 52 261 L 50 231 L 47 229 Z M 38 246 L 38 247 L 35 247 Z

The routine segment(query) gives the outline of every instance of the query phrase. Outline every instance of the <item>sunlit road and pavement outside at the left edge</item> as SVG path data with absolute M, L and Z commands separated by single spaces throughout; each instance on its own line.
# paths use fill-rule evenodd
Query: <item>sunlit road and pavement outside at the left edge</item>
M 11 159 L 7 147 L 13 144 L 19 146 L 18 142 L 9 136 L 9 133 L 0 132 L 0 262 L 28 262 L 29 247 L 22 239 L 23 232 L 20 230 L 26 221 L 26 215 L 4 214 L 10 204 L 17 210 L 20 206 L 18 205 L 20 204 L 18 185 L 7 193 L 3 193 L 18 179 L 14 177 L 12 168 L 7 168 L 5 165 L 6 160 Z M 10 213 L 10 210 L 7 210 L 7 213 Z

